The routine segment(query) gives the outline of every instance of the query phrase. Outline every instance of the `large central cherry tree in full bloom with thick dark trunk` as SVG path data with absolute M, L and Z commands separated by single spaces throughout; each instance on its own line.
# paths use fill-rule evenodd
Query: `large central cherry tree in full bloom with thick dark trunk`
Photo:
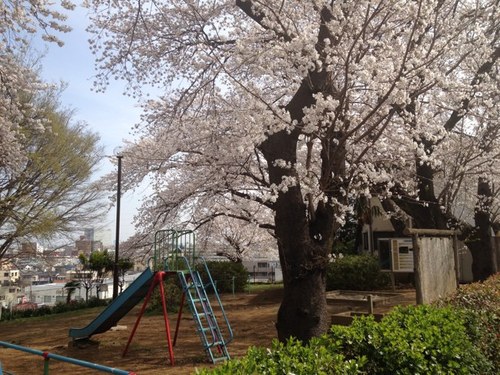
M 128 149 L 129 186 L 153 176 L 157 192 L 139 224 L 269 226 L 281 340 L 328 328 L 325 267 L 350 202 L 432 195 L 434 146 L 465 121 L 471 92 L 492 94 L 474 74 L 495 54 L 493 0 L 89 3 L 97 90 L 115 77 L 130 95 L 164 90 Z

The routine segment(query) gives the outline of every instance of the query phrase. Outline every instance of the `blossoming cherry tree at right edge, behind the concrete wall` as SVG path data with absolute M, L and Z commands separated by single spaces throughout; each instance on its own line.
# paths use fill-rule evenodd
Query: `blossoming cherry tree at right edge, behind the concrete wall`
M 457 3 L 452 14 L 461 6 Z M 484 280 L 496 270 L 491 235 L 498 228 L 494 186 L 499 183 L 495 164 L 500 156 L 500 33 L 498 4 L 480 2 L 477 9 L 484 11 L 483 16 L 471 17 L 460 48 L 452 51 L 455 56 L 450 61 L 455 63 L 446 75 L 452 77 L 453 89 L 444 87 L 441 95 L 446 101 L 437 97 L 440 106 L 432 108 L 424 95 L 424 100 L 404 108 L 418 145 L 415 167 L 409 167 L 415 171 L 418 193 L 405 194 L 400 187 L 394 192 L 403 196 L 397 204 L 417 227 L 460 229 L 472 251 L 474 279 Z M 437 125 L 433 132 L 418 129 L 429 104 Z

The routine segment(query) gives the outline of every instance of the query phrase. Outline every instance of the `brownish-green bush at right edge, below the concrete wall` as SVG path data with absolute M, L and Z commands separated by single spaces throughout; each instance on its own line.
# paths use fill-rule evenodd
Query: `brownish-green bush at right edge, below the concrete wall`
M 493 373 L 500 374 L 500 273 L 462 286 L 436 305 L 460 311 L 474 345 L 493 363 Z

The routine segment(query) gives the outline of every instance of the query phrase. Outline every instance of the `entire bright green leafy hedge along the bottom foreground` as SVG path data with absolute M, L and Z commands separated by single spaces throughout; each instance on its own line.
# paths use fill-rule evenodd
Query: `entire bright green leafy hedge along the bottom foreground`
M 269 349 L 253 347 L 241 359 L 197 373 L 498 374 L 493 359 L 471 336 L 469 324 L 473 323 L 461 309 L 399 307 L 380 323 L 373 317 L 359 317 L 351 326 L 332 326 L 327 335 L 307 345 L 274 341 Z M 476 326 L 476 330 L 484 328 Z

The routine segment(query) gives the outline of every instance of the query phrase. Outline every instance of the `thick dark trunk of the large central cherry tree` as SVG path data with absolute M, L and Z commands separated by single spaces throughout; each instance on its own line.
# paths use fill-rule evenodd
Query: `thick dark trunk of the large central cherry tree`
M 302 107 L 300 107 L 302 108 Z M 296 177 L 294 168 L 275 160 L 296 164 L 297 135 L 272 134 L 260 146 L 269 165 L 270 182 Z M 300 184 L 279 191 L 274 203 L 276 237 L 283 270 L 284 296 L 276 329 L 280 341 L 290 337 L 307 342 L 329 327 L 325 296 L 325 269 L 333 239 L 333 213 L 319 204 L 314 218 L 308 216 Z

